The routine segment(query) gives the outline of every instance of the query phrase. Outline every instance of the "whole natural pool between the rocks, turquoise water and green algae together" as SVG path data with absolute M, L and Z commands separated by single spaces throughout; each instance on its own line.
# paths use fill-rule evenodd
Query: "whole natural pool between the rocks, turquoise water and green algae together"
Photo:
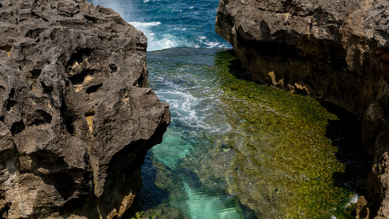
M 245 80 L 229 50 L 172 48 L 147 62 L 172 120 L 146 156 L 130 217 L 353 218 L 368 162 L 357 122 Z

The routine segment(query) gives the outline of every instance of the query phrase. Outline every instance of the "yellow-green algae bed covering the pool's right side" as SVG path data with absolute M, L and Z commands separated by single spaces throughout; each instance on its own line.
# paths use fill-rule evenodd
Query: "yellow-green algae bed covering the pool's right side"
M 223 141 L 234 153 L 211 149 L 213 156 L 201 159 L 203 169 L 210 169 L 204 166 L 209 163 L 224 166 L 214 174 L 260 218 L 348 218 L 346 204 L 353 194 L 334 185 L 333 174 L 345 167 L 325 136 L 336 115 L 311 97 L 238 79 L 231 71 L 235 59 L 217 53 L 214 69 L 231 125 Z

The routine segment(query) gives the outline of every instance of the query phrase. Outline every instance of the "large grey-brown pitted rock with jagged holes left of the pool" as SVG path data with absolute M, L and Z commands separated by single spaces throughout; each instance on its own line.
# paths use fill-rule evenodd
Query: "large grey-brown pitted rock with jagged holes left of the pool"
M 170 121 L 146 37 L 86 0 L 1 0 L 0 29 L 0 217 L 120 218 Z

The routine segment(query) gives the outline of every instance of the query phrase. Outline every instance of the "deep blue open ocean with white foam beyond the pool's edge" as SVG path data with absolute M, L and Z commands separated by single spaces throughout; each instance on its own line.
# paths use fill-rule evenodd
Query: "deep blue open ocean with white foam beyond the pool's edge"
M 214 33 L 218 0 L 90 0 L 119 12 L 148 38 L 148 51 L 230 48 Z

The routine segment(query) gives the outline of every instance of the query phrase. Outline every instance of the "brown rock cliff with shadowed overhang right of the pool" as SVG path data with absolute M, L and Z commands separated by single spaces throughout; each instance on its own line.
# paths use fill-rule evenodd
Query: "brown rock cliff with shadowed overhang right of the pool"
M 389 1 L 220 0 L 216 33 L 254 80 L 354 112 L 373 155 L 359 218 L 389 218 Z

